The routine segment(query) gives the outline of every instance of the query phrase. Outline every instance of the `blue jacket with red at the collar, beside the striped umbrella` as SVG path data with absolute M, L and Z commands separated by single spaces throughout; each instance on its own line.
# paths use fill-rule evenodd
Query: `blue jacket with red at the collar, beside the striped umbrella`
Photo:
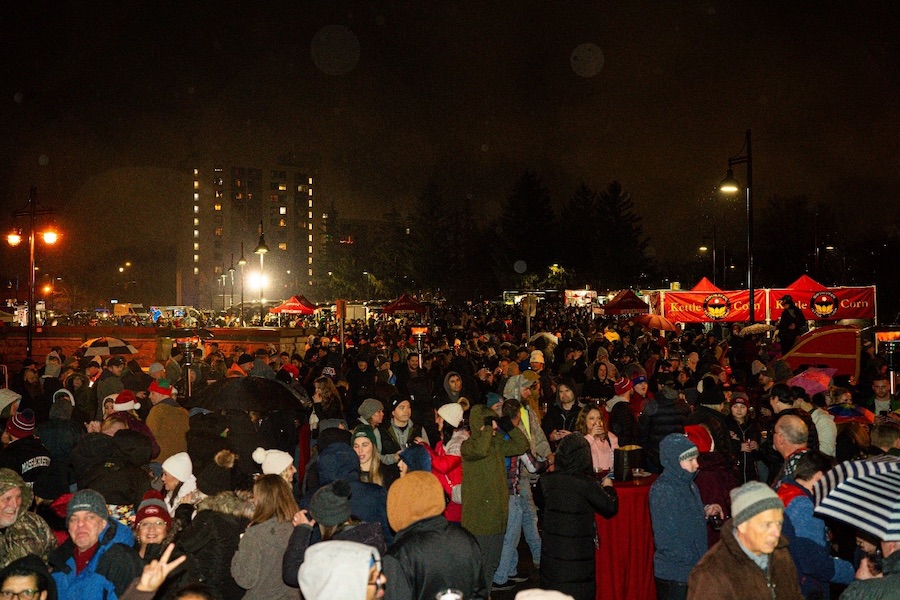
M 812 494 L 806 488 L 788 478 L 779 486 L 778 496 L 785 505 L 781 535 L 790 542 L 788 550 L 797 565 L 800 591 L 806 598 L 818 591 L 818 597 L 828 600 L 829 583 L 853 583 L 853 565 L 831 556 L 825 522 L 813 514 Z

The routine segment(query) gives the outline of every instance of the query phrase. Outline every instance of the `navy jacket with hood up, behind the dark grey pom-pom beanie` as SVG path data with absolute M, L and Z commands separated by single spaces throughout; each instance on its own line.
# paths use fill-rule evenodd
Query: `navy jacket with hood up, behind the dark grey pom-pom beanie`
M 350 484 L 350 513 L 367 523 L 380 523 L 384 541 L 394 539 L 387 520 L 387 490 L 375 483 L 359 480 L 359 457 L 353 448 L 337 442 L 328 446 L 318 461 L 319 484 L 328 485 L 338 479 Z M 300 508 L 309 508 L 315 490 L 310 490 L 300 501 Z

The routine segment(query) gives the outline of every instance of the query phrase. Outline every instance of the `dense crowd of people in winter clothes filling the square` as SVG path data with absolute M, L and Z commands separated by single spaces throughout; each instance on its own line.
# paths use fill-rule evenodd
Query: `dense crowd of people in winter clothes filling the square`
M 432 314 L 424 340 L 373 319 L 290 352 L 26 360 L 3 415 L 0 594 L 594 598 L 596 548 L 616 543 L 595 518 L 617 514 L 616 451 L 638 445 L 660 599 L 900 597 L 900 542 L 813 512 L 836 461 L 900 455 L 871 344 L 858 380 L 810 396 L 777 340 L 739 327 L 552 306 L 531 327 L 468 306 Z M 246 377 L 296 408 L 194 402 Z M 833 404 L 875 422 L 836 424 Z

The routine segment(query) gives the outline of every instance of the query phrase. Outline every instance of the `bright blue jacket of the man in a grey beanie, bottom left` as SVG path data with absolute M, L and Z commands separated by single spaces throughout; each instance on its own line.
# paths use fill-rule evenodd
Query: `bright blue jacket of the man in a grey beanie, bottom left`
M 75 544 L 68 540 L 48 561 L 59 600 L 116 600 L 139 577 L 144 564 L 132 549 L 134 534 L 113 519 L 100 532 L 100 547 L 81 573 L 75 573 Z

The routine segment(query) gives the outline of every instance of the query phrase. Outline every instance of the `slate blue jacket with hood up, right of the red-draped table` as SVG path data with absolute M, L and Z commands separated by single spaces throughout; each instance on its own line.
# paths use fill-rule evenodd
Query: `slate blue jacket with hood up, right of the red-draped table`
M 659 443 L 662 475 L 650 488 L 653 523 L 653 574 L 687 582 L 691 569 L 706 554 L 706 515 L 696 473 L 681 468 L 678 457 L 694 444 L 683 433 L 670 433 Z

